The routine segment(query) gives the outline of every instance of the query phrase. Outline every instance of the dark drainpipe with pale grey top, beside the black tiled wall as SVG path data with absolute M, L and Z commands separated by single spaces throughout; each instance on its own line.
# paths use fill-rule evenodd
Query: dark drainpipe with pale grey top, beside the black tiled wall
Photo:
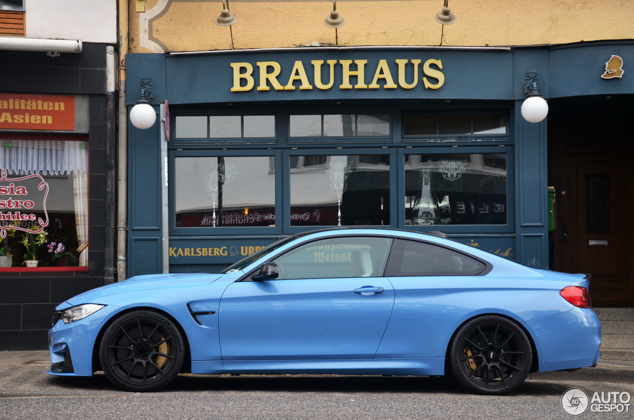
M 106 244 L 104 248 L 105 265 L 103 282 L 114 283 L 114 228 L 115 228 L 115 88 L 117 85 L 115 70 L 115 48 L 106 47 Z

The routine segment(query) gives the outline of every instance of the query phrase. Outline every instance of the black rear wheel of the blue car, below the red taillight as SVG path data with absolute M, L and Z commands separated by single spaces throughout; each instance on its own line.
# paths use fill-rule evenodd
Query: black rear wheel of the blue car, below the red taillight
M 484 315 L 456 331 L 449 358 L 451 372 L 463 387 L 499 395 L 524 382 L 533 352 L 526 333 L 512 320 Z

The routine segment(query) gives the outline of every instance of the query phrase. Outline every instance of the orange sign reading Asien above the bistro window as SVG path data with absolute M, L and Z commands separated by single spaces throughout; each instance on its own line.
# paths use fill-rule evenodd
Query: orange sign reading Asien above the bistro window
M 0 128 L 75 129 L 75 96 L 0 93 Z

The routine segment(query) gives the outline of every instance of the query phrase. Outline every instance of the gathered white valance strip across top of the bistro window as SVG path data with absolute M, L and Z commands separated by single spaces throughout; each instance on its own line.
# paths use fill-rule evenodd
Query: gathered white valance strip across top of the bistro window
M 59 175 L 88 170 L 86 141 L 4 140 L 0 164 L 10 174 Z

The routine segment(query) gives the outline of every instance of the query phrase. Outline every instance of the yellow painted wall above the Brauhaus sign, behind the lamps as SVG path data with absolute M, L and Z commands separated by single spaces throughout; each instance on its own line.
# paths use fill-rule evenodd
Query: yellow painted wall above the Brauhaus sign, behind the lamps
M 146 12 L 130 4 L 135 53 L 229 49 L 229 27 L 216 25 L 220 0 L 147 0 Z M 513 46 L 634 38 L 634 0 L 450 0 L 456 23 L 444 25 L 443 45 Z M 340 0 L 346 18 L 340 46 L 439 45 L 443 25 L 434 15 L 443 0 Z M 242 48 L 335 43 L 323 20 L 331 1 L 230 0 L 238 22 L 233 42 Z

